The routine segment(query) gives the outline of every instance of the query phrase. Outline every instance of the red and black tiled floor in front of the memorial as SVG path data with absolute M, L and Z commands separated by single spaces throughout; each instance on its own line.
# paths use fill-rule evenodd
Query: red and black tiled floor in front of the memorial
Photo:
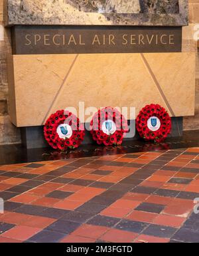
M 0 166 L 0 242 L 199 242 L 199 148 Z

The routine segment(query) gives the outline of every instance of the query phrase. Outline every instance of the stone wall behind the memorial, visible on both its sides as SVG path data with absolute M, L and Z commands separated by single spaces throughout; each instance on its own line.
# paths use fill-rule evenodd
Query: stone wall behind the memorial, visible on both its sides
M 3 29 L 3 1 L 0 0 L 0 144 L 21 141 L 20 130 L 9 120 L 7 110 L 7 64 L 6 55 L 11 51 L 9 30 Z M 189 0 L 190 23 L 199 23 L 199 0 Z M 198 45 L 199 46 L 199 45 Z M 196 68 L 196 112 L 184 118 L 184 130 L 199 129 L 199 57 Z

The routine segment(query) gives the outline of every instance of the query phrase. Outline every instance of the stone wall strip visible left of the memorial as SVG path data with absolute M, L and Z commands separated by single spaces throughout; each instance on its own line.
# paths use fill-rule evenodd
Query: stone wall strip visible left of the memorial
M 11 51 L 9 31 L 3 28 L 3 0 L 0 0 L 0 144 L 20 142 L 20 131 L 11 124 L 7 110 L 7 63 Z

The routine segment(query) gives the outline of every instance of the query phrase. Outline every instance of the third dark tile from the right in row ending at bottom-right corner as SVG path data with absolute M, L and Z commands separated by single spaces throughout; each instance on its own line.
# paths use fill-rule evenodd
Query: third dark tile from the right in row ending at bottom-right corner
M 149 224 L 139 221 L 129 221 L 123 219 L 116 225 L 116 229 L 121 229 L 125 231 L 131 231 L 135 233 L 141 233 Z

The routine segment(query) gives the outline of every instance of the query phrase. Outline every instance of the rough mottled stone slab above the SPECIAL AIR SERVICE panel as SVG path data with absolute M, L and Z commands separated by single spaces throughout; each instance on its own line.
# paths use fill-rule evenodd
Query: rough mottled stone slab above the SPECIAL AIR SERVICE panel
M 147 9 L 145 1 L 126 1 L 121 7 L 118 0 L 7 0 L 5 25 L 188 25 L 188 0 L 155 1 Z

